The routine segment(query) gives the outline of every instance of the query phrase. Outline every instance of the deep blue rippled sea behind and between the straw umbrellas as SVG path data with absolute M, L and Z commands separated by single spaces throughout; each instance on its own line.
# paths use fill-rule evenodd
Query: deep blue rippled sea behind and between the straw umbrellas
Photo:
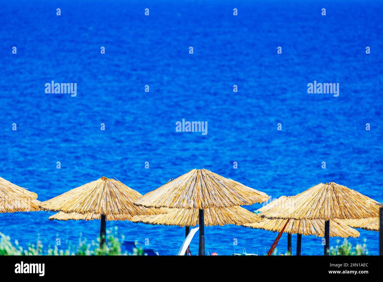
M 374 1 L 1 1 L 0 176 L 41 201 L 103 175 L 147 193 L 206 168 L 272 198 L 334 181 L 381 202 L 382 14 Z M 46 94 L 51 80 L 77 83 L 77 96 Z M 308 94 L 314 80 L 339 83 L 339 97 Z M 182 119 L 207 121 L 208 134 L 176 132 Z M 61 238 L 63 249 L 99 234 L 98 220 L 52 214 L 1 214 L 0 232 L 23 246 Z M 185 236 L 177 226 L 114 226 L 166 255 Z M 378 254 L 378 233 L 359 231 L 349 241 L 367 239 Z M 206 251 L 265 254 L 276 236 L 206 227 Z M 303 236 L 302 254 L 322 254 L 321 239 Z M 197 237 L 190 248 L 197 254 Z

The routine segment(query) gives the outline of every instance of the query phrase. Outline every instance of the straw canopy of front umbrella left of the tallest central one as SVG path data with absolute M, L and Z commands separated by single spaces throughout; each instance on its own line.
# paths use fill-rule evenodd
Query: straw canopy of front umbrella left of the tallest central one
M 142 195 L 118 180 L 101 177 L 57 197 L 40 203 L 43 210 L 96 215 L 156 215 L 166 209 L 144 208 L 133 204 Z

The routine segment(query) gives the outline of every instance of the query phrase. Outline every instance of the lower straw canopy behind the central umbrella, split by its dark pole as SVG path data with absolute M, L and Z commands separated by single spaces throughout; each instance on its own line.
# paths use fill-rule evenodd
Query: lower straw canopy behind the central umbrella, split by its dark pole
M 195 226 L 198 224 L 199 209 L 172 208 L 169 213 L 160 215 L 133 216 L 131 221 L 159 225 Z M 243 225 L 260 222 L 262 219 L 254 213 L 239 206 L 222 208 L 212 207 L 205 210 L 205 225 Z

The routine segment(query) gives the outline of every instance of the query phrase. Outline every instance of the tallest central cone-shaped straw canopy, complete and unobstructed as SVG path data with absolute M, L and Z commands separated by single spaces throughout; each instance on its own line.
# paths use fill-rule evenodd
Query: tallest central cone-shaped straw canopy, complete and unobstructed
M 144 207 L 206 209 L 262 203 L 269 198 L 206 169 L 193 169 L 136 200 Z

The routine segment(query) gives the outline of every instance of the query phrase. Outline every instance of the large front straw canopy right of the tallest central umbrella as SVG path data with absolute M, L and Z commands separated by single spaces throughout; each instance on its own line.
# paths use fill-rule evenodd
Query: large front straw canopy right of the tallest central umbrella
M 319 183 L 295 195 L 280 210 L 263 213 L 268 218 L 291 219 L 360 219 L 379 216 L 376 201 L 345 186 Z

